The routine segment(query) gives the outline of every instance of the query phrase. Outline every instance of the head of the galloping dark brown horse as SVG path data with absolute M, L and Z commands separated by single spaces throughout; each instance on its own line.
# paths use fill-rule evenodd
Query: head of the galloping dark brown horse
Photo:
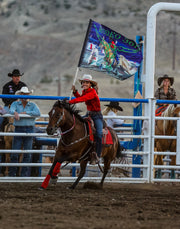
M 63 101 L 58 100 L 49 112 L 49 123 L 47 126 L 47 134 L 52 135 L 63 125 L 65 121 L 65 109 Z

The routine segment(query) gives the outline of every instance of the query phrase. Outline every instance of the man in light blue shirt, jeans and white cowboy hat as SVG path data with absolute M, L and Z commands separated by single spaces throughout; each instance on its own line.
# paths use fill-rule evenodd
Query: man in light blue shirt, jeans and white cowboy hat
M 16 95 L 30 95 L 32 94 L 32 90 L 29 91 L 27 87 L 22 87 L 20 90 L 16 91 Z M 29 99 L 22 98 L 18 101 L 14 101 L 11 104 L 10 114 L 14 115 L 14 126 L 15 133 L 34 133 L 35 119 L 40 116 L 39 107 L 30 102 Z M 26 114 L 27 117 L 20 117 L 20 114 Z M 12 149 L 20 150 L 22 145 L 24 150 L 31 150 L 33 143 L 32 136 L 14 136 Z M 11 154 L 11 163 L 18 162 L 18 154 Z M 31 162 L 31 154 L 25 153 L 23 155 L 23 163 Z M 30 176 L 30 168 L 22 167 L 21 176 Z M 9 176 L 16 176 L 17 167 L 9 168 Z

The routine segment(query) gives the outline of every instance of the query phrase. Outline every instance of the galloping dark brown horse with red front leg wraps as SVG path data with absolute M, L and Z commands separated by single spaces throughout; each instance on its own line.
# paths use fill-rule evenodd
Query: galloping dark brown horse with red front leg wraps
M 91 153 L 94 150 L 94 144 L 89 140 L 86 121 L 79 115 L 79 110 L 75 105 L 69 104 L 64 100 L 58 100 L 49 112 L 49 123 L 47 134 L 53 135 L 58 128 L 61 131 L 61 138 L 57 146 L 53 164 L 48 175 L 43 181 L 40 189 L 47 188 L 49 181 L 56 183 L 57 174 L 63 162 L 80 162 L 80 172 L 76 181 L 70 186 L 74 189 L 85 174 L 88 161 L 91 160 Z M 113 144 L 103 145 L 101 156 L 104 159 L 103 176 L 100 187 L 103 187 L 104 179 L 110 169 L 111 162 L 115 157 L 122 156 L 118 137 L 113 129 L 108 127 Z

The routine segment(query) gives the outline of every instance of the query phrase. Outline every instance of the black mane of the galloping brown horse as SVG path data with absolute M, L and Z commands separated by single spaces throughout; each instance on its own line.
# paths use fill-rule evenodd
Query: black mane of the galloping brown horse
M 77 110 L 75 104 L 69 104 L 65 99 L 56 101 L 53 107 L 65 108 L 70 114 L 74 114 L 81 122 L 85 122 L 83 117 L 79 114 L 81 110 Z

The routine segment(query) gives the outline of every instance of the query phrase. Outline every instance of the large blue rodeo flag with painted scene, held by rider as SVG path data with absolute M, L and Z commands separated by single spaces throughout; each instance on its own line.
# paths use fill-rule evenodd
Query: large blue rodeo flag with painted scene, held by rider
M 135 41 L 90 19 L 78 67 L 125 80 L 136 73 L 141 61 Z

